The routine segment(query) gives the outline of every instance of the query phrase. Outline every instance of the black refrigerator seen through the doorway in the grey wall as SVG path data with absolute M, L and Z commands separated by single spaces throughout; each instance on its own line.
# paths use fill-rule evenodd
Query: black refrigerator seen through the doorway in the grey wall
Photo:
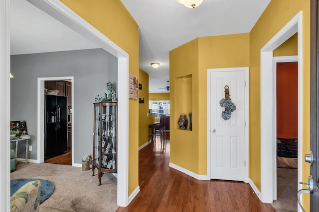
M 45 95 L 44 158 L 67 152 L 68 97 Z

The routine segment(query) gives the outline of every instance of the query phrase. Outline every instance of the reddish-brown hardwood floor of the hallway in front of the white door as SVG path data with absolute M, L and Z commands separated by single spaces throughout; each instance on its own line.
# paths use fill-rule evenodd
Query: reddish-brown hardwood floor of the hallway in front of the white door
M 262 203 L 249 184 L 223 180 L 196 180 L 168 167 L 169 141 L 139 151 L 140 192 L 117 212 L 275 212 Z

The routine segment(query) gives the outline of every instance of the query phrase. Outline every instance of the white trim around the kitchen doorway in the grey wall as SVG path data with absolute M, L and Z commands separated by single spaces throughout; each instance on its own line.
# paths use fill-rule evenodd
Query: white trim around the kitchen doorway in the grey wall
M 38 78 L 38 110 L 37 110 L 37 161 L 38 163 L 44 162 L 44 82 L 50 80 L 71 80 L 71 105 L 72 105 L 72 121 L 76 120 L 76 106 L 74 105 L 74 76 L 57 76 L 57 77 L 39 77 Z M 72 149 L 74 147 L 74 125 L 71 125 L 72 130 Z M 72 151 L 72 166 L 74 164 L 74 151 Z

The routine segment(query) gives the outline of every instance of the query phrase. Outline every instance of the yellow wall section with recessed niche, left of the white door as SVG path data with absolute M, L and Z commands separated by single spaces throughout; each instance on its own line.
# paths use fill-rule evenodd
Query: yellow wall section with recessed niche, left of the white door
M 191 76 L 187 78 L 186 76 Z M 184 78 L 186 77 L 186 78 Z M 187 87 L 187 81 L 191 79 L 191 88 Z M 184 81 L 184 85 L 182 83 Z M 183 85 L 187 90 L 177 90 Z M 191 172 L 198 173 L 198 39 L 194 39 L 169 52 L 169 85 L 170 85 L 170 119 L 169 119 L 169 141 L 170 162 L 185 168 Z M 182 92 L 178 93 L 178 92 Z M 183 98 L 184 97 L 184 98 Z M 178 100 L 177 100 L 178 99 Z M 189 102 L 189 99 L 192 101 Z M 179 106 L 182 105 L 181 108 Z M 177 125 L 181 114 L 193 114 L 193 131 L 180 130 Z M 187 116 L 187 119 L 188 116 Z M 194 126 L 194 123 L 197 125 Z

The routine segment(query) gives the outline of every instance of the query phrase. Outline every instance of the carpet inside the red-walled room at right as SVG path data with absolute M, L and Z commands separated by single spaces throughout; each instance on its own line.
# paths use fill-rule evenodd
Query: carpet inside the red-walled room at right
M 277 168 L 277 200 L 271 205 L 276 212 L 297 212 L 298 169 Z

